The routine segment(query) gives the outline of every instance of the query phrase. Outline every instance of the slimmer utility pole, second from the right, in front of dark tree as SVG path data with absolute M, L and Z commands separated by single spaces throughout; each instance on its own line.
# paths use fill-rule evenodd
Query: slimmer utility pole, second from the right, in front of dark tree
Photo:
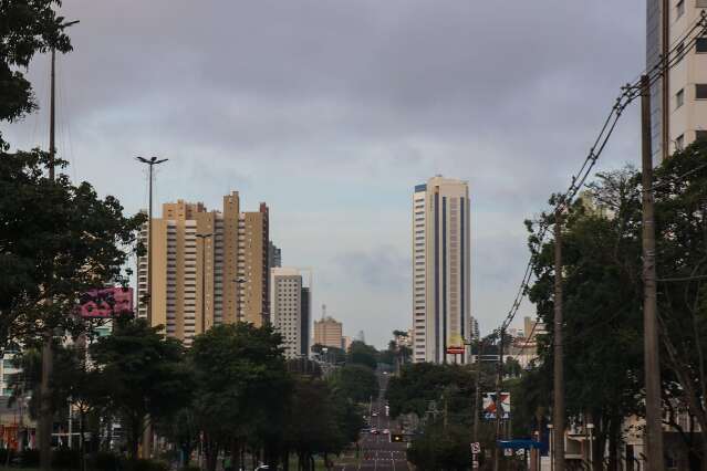
M 560 201 L 561 206 L 563 201 Z M 564 471 L 564 353 L 562 347 L 562 209 L 554 211 L 554 470 Z

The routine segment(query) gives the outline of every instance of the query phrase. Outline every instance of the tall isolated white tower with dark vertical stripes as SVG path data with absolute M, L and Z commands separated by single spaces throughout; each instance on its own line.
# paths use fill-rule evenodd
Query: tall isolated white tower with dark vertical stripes
M 469 187 L 430 178 L 413 195 L 413 331 L 415 362 L 466 363 L 470 326 Z

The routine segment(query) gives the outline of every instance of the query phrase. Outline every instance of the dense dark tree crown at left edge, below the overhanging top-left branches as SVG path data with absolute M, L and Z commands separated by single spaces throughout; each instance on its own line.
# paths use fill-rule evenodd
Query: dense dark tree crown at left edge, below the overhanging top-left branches
M 0 347 L 38 345 L 48 329 L 81 332 L 82 293 L 127 282 L 122 269 L 144 221 L 87 182 L 49 180 L 46 161 L 40 151 L 0 155 Z

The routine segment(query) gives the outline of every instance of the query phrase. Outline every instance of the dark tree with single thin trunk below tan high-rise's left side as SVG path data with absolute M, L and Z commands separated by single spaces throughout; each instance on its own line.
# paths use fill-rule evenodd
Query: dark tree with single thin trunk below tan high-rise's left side
M 186 407 L 194 390 L 184 347 L 165 338 L 162 326 L 127 316 L 114 321 L 113 334 L 90 347 L 111 410 L 125 427 L 128 454 L 137 448 L 147 417 L 159 421 Z

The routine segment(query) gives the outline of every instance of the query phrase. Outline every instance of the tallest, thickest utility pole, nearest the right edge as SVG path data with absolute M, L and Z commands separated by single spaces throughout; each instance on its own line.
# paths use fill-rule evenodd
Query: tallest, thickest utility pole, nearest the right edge
M 643 186 L 643 328 L 646 388 L 646 470 L 663 471 L 663 414 L 655 268 L 655 214 L 653 206 L 653 149 L 651 148 L 651 83 L 641 77 L 641 135 Z

